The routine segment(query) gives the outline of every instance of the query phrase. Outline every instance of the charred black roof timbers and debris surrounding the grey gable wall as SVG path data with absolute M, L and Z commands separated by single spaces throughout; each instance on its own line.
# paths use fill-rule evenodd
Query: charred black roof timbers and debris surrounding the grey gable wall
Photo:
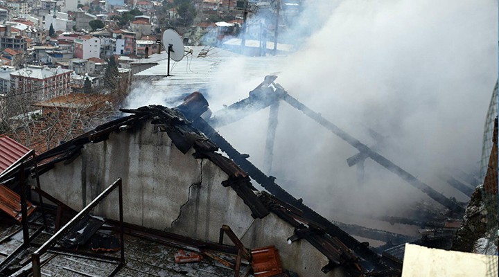
M 209 261 L 213 265 L 231 269 L 227 276 L 249 276 L 249 274 L 296 276 L 282 268 L 278 249 L 271 246 L 264 249 L 248 249 L 228 225 L 220 226 L 219 241 L 211 242 L 127 223 L 126 219 L 123 219 L 121 179 L 107 186 L 103 193 L 79 212 L 43 190 L 40 175 L 49 172 L 57 164 L 72 163 L 82 154 L 85 145 L 106 141 L 114 132 L 127 132 L 145 122 L 155 125 L 159 132 L 166 132 L 173 145 L 182 153 L 186 154 L 193 149 L 195 159 L 208 159 L 225 172 L 229 177 L 221 185 L 231 188 L 240 199 L 243 199 L 254 219 L 262 219 L 272 213 L 292 226 L 294 234 L 283 240 L 288 240 L 290 244 L 297 240 L 306 240 L 310 243 L 329 261 L 322 266 L 325 274 L 340 267 L 347 276 L 400 276 L 405 242 L 450 247 L 448 242 L 459 227 L 459 222 L 456 223 L 452 219 L 462 217 L 464 213 L 462 204 L 419 181 L 396 163 L 353 138 L 321 114 L 306 107 L 275 83 L 276 78 L 265 77 L 258 87 L 249 92 L 248 98 L 214 113 L 210 118 L 202 116 L 208 110 L 209 103 L 201 93 L 195 92 L 173 109 L 159 105 L 122 109 L 123 113 L 130 115 L 100 125 L 42 154 L 35 155 L 30 151 L 17 159 L 8 169 L 0 173 L 1 197 L 9 199 L 9 202 L 1 202 L 1 209 L 10 211 L 10 214 L 6 213 L 2 217 L 12 218 L 8 222 L 15 226 L 12 229 L 3 229 L 0 242 L 8 242 L 19 234 L 22 239 L 15 249 L 0 252 L 0 276 L 2 274 L 41 276 L 44 265 L 49 264 L 58 253 L 105 262 L 107 265 L 112 265 L 106 275 L 113 276 L 123 270 L 132 270 L 127 266 L 127 262 L 134 258 L 127 258 L 128 253 L 124 250 L 125 242 L 137 238 L 153 240 L 180 249 L 175 252 L 177 263 Z M 293 197 L 281 188 L 276 178 L 265 175 L 256 168 L 247 160 L 247 154 L 238 152 L 215 130 L 216 127 L 234 123 L 260 109 L 270 107 L 268 138 L 265 145 L 265 164 L 270 166 L 281 100 L 302 111 L 356 148 L 358 154 L 347 159 L 349 166 L 356 166 L 365 159 L 372 159 L 401 177 L 410 186 L 426 193 L 446 208 L 447 212 L 435 214 L 432 213 L 432 207 L 421 206 L 414 208 L 412 218 L 378 217 L 378 220 L 387 222 L 420 226 L 421 238 L 412 238 L 364 226 L 331 222 L 313 211 L 303 204 L 301 199 Z M 219 154 L 218 150 L 225 152 L 230 159 Z M 250 177 L 261 184 L 268 193 L 256 190 L 251 184 Z M 30 186 L 28 179 L 34 180 L 34 183 L 30 181 Z M 470 193 L 466 185 L 458 184 L 455 179 L 450 179 L 449 183 L 461 188 L 463 192 Z M 8 193 L 5 193 L 6 191 Z M 119 220 L 93 215 L 92 209 L 112 193 L 119 195 L 118 203 L 115 205 L 119 210 Z M 35 209 L 37 211 L 33 213 Z M 369 247 L 367 242 L 360 242 L 352 235 L 381 240 L 387 244 L 374 249 Z M 227 237 L 231 244 L 224 243 L 224 238 Z M 101 252 L 94 253 L 85 249 L 100 249 Z M 267 275 L 262 272 L 267 272 Z

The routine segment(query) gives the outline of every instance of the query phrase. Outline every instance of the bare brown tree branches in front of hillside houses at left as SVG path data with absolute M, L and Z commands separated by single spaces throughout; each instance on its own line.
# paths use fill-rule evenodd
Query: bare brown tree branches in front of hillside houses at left
M 30 89 L 12 83 L 10 93 L 0 97 L 0 134 L 7 134 L 37 153 L 44 152 L 110 118 L 122 98 L 118 93 L 103 94 L 98 89 L 94 93 L 59 95 L 55 90 L 67 85 L 61 82 L 66 80 L 55 78 L 49 86 Z M 35 96 L 47 90 L 49 95 L 58 96 L 35 102 Z

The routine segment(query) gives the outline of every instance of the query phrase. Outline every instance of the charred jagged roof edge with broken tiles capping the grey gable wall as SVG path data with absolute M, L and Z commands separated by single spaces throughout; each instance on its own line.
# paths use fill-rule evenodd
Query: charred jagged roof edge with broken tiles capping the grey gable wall
M 179 107 L 180 108 L 180 107 Z M 252 217 L 263 218 L 272 211 L 281 220 L 295 227 L 297 239 L 305 238 L 313 247 L 329 259 L 329 264 L 324 265 L 326 273 L 333 267 L 341 265 L 351 273 L 362 276 L 365 270 L 358 264 L 359 258 L 343 242 L 324 230 L 321 224 L 306 219 L 303 213 L 292 204 L 282 202 L 276 197 L 269 197 L 268 193 L 259 192 L 251 184 L 247 172 L 242 170 L 234 161 L 217 153 L 218 146 L 211 142 L 200 130 L 191 125 L 186 119 L 182 108 L 168 108 L 159 105 L 150 105 L 138 109 L 121 109 L 130 116 L 124 116 L 108 123 L 99 125 L 91 131 L 67 141 L 56 148 L 48 150 L 37 156 L 39 174 L 49 171 L 56 163 L 64 161 L 71 163 L 80 154 L 80 150 L 88 143 L 98 143 L 110 138 L 110 134 L 132 129 L 137 124 L 150 122 L 160 131 L 168 134 L 175 147 L 186 154 L 191 148 L 195 150 L 195 159 L 209 159 L 220 170 L 228 175 L 222 186 L 230 186 L 251 210 Z M 188 111 L 184 111 L 188 112 Z M 265 196 L 266 195 L 266 196 Z M 304 224 L 306 223 L 306 224 Z

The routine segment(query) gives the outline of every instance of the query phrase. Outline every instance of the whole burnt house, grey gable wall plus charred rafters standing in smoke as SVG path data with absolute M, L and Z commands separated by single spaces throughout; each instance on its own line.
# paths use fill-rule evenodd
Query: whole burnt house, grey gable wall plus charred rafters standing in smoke
M 55 230 L 60 230 L 34 251 L 39 260 L 34 259 L 33 267 L 24 262 L 18 274 L 40 270 L 41 252 L 55 251 L 51 244 L 62 246 L 60 240 L 65 238 L 83 245 L 98 229 L 107 226 L 122 236 L 119 240 L 122 243 L 121 257 L 118 258 L 120 266 L 111 274 L 119 274 L 120 270 L 128 268 L 124 261 L 129 251 L 123 245 L 123 233 L 128 233 L 189 249 L 234 269 L 236 276 L 242 263 L 249 265 L 245 262 L 253 262 L 251 267 L 245 267 L 247 274 L 253 270 L 255 276 L 264 276 L 256 274 L 259 267 L 254 265 L 254 261 L 261 248 L 270 245 L 279 249 L 274 253 L 279 253 L 281 262 L 272 267 L 277 271 L 265 276 L 321 276 L 319 272 L 324 276 L 400 275 L 401 260 L 394 258 L 400 255 L 395 253 L 400 249 L 381 256 L 369 244 L 359 242 L 351 235 L 362 233 L 367 238 L 392 240 L 396 244 L 412 238 L 331 222 L 283 190 L 274 177 L 265 175 L 247 161 L 247 155 L 240 154 L 213 128 L 271 107 L 265 148 L 271 160 L 277 108 L 279 101 L 284 100 L 358 149 L 359 154 L 348 159 L 350 166 L 369 157 L 450 211 L 462 213 L 464 208 L 292 98 L 274 83 L 275 78 L 265 77 L 248 98 L 213 114 L 211 118 L 204 116 L 207 100 L 196 92 L 173 109 L 157 105 L 123 109 L 132 115 L 104 123 L 34 159 L 18 160 L 17 167 L 1 173 L 0 186 L 9 186 L 22 196 L 24 175 L 35 177 L 27 180 L 34 190 L 28 196 L 40 199 L 42 206 L 42 197 L 58 206 Z M 219 149 L 230 159 L 218 153 Z M 250 177 L 269 193 L 256 190 Z M 108 184 L 113 185 L 107 187 Z M 119 195 L 111 193 L 114 188 L 119 188 Z M 103 191 L 105 195 L 101 194 Z M 100 202 L 105 197 L 109 198 Z M 116 208 L 116 202 L 119 208 Z M 25 206 L 24 203 L 21 197 L 19 205 Z M 99 219 L 106 219 L 88 223 L 92 222 L 89 219 L 91 208 L 95 209 Z M 61 228 L 63 211 L 70 215 L 81 212 Z M 22 213 L 24 230 L 28 229 L 28 215 Z M 42 217 L 45 220 L 46 216 Z M 44 221 L 40 228 L 45 224 Z M 39 232 L 29 235 L 26 231 L 19 249 L 33 246 L 31 237 Z M 224 233 L 234 246 L 223 244 Z M 71 244 L 71 247 L 75 245 Z M 219 254 L 213 254 L 213 251 Z M 220 252 L 233 257 L 220 258 Z M 28 253 L 30 251 L 24 251 L 21 255 L 20 250 L 10 253 L 1 262 L 0 272 L 8 267 L 12 269 L 13 260 Z M 88 256 L 87 253 L 78 255 Z M 42 261 L 42 264 L 44 262 L 47 263 Z M 277 265 L 289 272 L 279 272 Z

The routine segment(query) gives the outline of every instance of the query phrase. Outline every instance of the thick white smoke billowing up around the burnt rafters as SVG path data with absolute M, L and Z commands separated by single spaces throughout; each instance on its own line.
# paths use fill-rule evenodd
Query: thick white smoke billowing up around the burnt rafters
M 276 82 L 292 96 L 444 195 L 467 201 L 443 176 L 478 170 L 498 75 L 496 1 L 306 3 L 295 30 L 283 35 L 303 41 L 299 51 L 258 78 L 234 78 L 245 61 L 220 66 L 223 78 L 211 91 L 220 98 L 211 109 L 245 98 L 278 71 Z M 267 118 L 268 110 L 260 111 L 220 128 L 260 167 Z M 369 129 L 385 139 L 376 141 Z M 419 200 L 432 202 L 369 159 L 358 181 L 346 162 L 356 150 L 286 103 L 274 154 L 277 183 L 333 220 L 349 220 L 342 218 L 347 213 L 401 215 Z

